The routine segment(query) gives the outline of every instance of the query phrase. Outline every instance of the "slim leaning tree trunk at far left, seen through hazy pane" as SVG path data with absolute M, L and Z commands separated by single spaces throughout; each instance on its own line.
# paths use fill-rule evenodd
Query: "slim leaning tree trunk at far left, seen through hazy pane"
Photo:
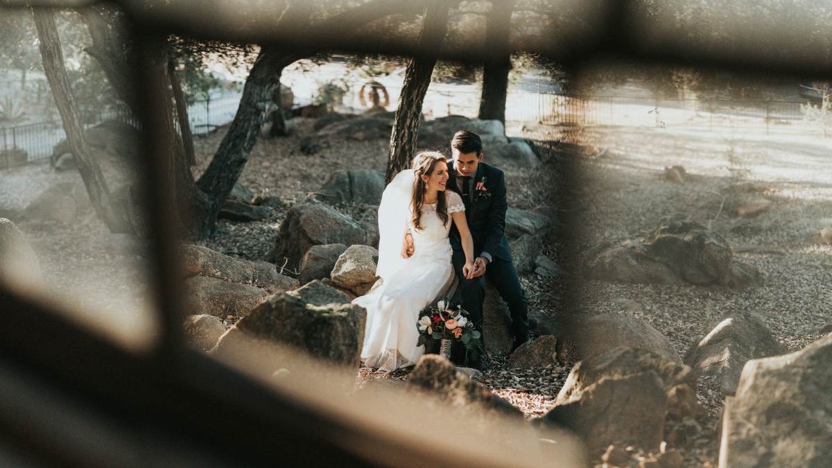
M 47 75 L 49 87 L 55 97 L 55 104 L 61 114 L 63 130 L 67 134 L 67 142 L 72 150 L 72 157 L 81 172 L 84 185 L 87 187 L 92 206 L 98 217 L 106 223 L 111 232 L 133 232 L 133 227 L 126 210 L 119 210 L 113 206 L 110 190 L 107 187 L 104 174 L 98 162 L 84 141 L 84 127 L 78 117 L 72 88 L 69 86 L 67 70 L 63 66 L 63 52 L 61 40 L 57 35 L 55 18 L 52 12 L 45 8 L 32 9 L 37 27 L 37 37 L 40 39 L 43 71 Z

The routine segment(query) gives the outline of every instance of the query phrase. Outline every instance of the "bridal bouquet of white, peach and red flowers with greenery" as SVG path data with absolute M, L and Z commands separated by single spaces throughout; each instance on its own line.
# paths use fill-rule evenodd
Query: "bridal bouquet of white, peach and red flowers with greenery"
M 438 301 L 436 306 L 428 306 L 419 314 L 417 346 L 425 345 L 429 340 L 445 341 L 448 345 L 452 340 L 461 341 L 466 349 L 478 346 L 480 332 L 467 316 L 468 311 L 463 309 L 463 306 L 453 309 L 449 307 L 448 301 Z

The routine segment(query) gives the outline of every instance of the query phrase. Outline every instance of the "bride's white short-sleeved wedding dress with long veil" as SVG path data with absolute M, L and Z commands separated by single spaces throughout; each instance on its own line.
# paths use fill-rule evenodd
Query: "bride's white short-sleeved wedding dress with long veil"
M 407 208 L 413 177 L 413 171 L 403 171 L 384 190 L 379 206 L 381 239 L 376 271 L 384 282 L 367 296 L 353 300 L 367 310 L 361 359 L 364 366 L 382 371 L 413 366 L 424 354 L 424 346 L 416 346 L 419 312 L 438 295 L 453 271 L 448 241 L 453 219 L 448 216 L 448 224 L 443 225 L 436 203 L 423 205 L 423 228 L 414 229 L 412 211 Z M 404 197 L 407 204 L 402 206 Z M 462 198 L 455 192 L 445 192 L 445 205 L 448 215 L 465 211 Z M 414 237 L 414 255 L 407 260 L 400 256 L 405 229 Z

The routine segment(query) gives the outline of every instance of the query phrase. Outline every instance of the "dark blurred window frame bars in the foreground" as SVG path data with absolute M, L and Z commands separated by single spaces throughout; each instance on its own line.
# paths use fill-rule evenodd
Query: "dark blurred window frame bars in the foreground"
M 800 41 L 802 30 L 794 23 L 754 27 L 751 15 L 745 30 L 733 35 L 716 34 L 711 42 L 696 43 L 691 42 L 696 35 L 685 32 L 699 27 L 697 18 L 675 14 L 685 2 L 517 2 L 539 7 L 538 19 L 543 20 L 530 23 L 522 29 L 526 33 L 514 37 L 509 45 L 512 52 L 541 54 L 562 63 L 576 75 L 592 62 L 608 58 L 752 73 L 832 75 L 830 57 L 821 50 L 828 37 Z M 181 337 L 175 274 L 176 242 L 182 235 L 175 208 L 178 172 L 171 167 L 174 148 L 166 144 L 171 141 L 173 122 L 166 120 L 165 114 L 155 112 L 156 106 L 165 102 L 165 73 L 159 73 L 164 68 L 158 65 L 164 58 L 160 45 L 167 34 L 261 44 L 261 50 L 277 51 L 275 67 L 280 67 L 281 61 L 293 62 L 314 52 L 385 53 L 488 62 L 493 59 L 493 50 L 484 42 L 484 27 L 469 32 L 453 47 L 446 38 L 437 53 L 430 48 L 430 42 L 419 41 L 419 27 L 399 29 L 395 22 L 418 17 L 431 5 L 459 7 L 460 3 L 477 2 L 332 0 L 320 2 L 315 12 L 310 11 L 311 2 L 305 0 L 119 2 L 131 18 L 135 28 L 132 40 L 139 46 L 136 58 L 141 66 L 136 67 L 134 83 L 138 86 L 132 89 L 143 96 L 137 102 L 146 130 L 148 185 L 144 187 L 144 200 L 146 212 L 153 214 L 149 217 L 148 232 L 155 246 L 152 271 L 156 277 L 161 336 L 146 353 L 128 352 L 67 321 L 41 302 L 0 284 L 0 309 L 6 312 L 7 319 L 0 330 L 0 456 L 27 464 L 71 466 L 485 466 L 508 460 L 505 456 L 490 460 L 483 454 L 474 456 L 463 444 L 453 452 L 433 450 L 431 440 L 435 438 L 427 434 L 419 439 L 379 435 L 375 432 L 379 426 L 361 427 L 360 423 L 366 421 L 349 417 L 349 411 L 336 416 L 325 411 L 324 403 L 311 394 L 275 390 L 251 374 L 232 370 L 186 348 Z M 93 4 L 54 0 L 2 2 L 4 7 L 36 8 Z M 739 12 L 752 6 L 752 2 L 737 2 L 726 9 Z M 384 12 L 377 20 L 378 29 L 355 28 L 360 18 L 350 17 L 349 7 L 362 14 Z M 324 17 L 319 22 L 290 21 L 293 15 L 305 17 L 321 11 Z M 347 16 L 339 19 L 338 28 L 327 27 L 333 25 L 327 22 L 328 18 L 331 21 L 338 14 Z M 383 24 L 391 17 L 392 26 Z M 727 14 L 724 23 L 715 27 L 730 25 L 731 17 Z M 354 31 L 344 35 L 344 29 Z M 383 40 L 374 35 L 378 31 L 384 32 Z M 760 47 L 760 43 L 770 47 Z M 154 62 L 156 67 L 148 66 Z M 255 79 L 274 80 L 269 72 L 267 69 Z M 279 77 L 278 74 L 278 81 Z M 265 112 L 254 108 L 260 114 Z M 262 123 L 265 117 L 254 118 Z M 252 138 L 256 136 L 235 144 L 253 146 Z M 224 169 L 216 167 L 215 173 Z M 209 177 L 201 181 L 200 188 L 230 190 L 216 185 L 223 183 L 219 177 Z M 314 375 L 306 385 L 312 383 Z M 313 391 L 314 386 L 308 390 Z M 383 407 L 379 401 L 379 408 Z M 567 447 L 561 448 L 568 451 Z M 551 456 L 557 456 L 557 451 Z M 515 466 L 540 460 L 525 459 L 520 454 L 513 457 Z M 559 465 L 557 458 L 550 458 L 549 462 Z

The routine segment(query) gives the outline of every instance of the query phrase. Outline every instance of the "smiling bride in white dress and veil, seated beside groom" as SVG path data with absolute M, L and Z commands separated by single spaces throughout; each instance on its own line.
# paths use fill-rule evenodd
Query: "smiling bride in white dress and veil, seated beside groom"
M 420 152 L 413 169 L 399 172 L 384 189 L 379 206 L 379 264 L 382 285 L 354 304 L 367 310 L 364 366 L 394 371 L 413 366 L 424 353 L 416 346 L 418 314 L 453 274 L 448 232 L 456 223 L 463 241 L 463 274 L 473 271 L 473 240 L 465 206 L 446 191 L 448 164 L 438 152 Z M 409 239 L 413 236 L 413 254 Z

